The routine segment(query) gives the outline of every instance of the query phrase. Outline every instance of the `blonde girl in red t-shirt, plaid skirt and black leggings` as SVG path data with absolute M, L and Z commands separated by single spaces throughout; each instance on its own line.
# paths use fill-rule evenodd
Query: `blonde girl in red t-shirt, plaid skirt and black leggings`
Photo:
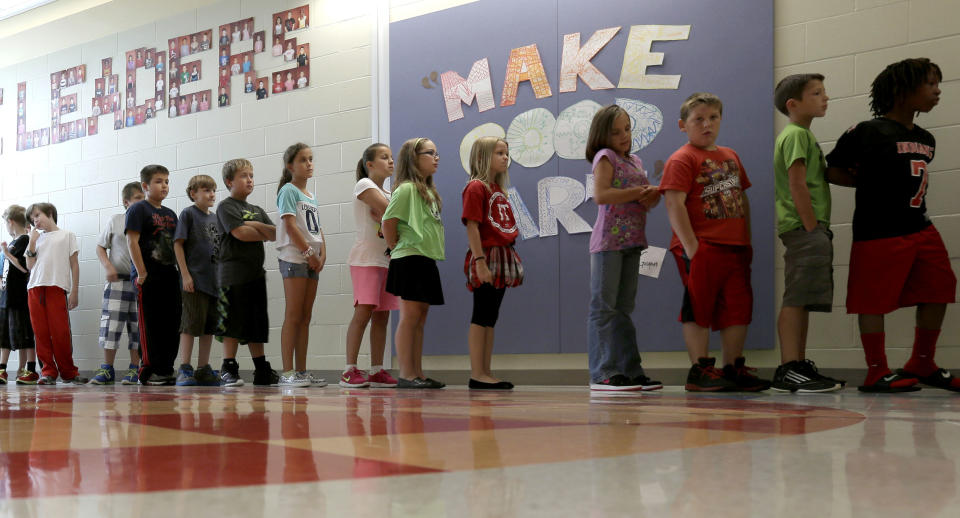
M 471 389 L 513 388 L 490 372 L 494 326 L 508 287 L 523 283 L 523 265 L 513 249 L 517 219 L 504 192 L 510 184 L 510 150 L 507 141 L 481 137 L 470 149 L 470 181 L 463 189 L 463 216 L 469 249 L 463 272 L 473 292 L 470 318 Z

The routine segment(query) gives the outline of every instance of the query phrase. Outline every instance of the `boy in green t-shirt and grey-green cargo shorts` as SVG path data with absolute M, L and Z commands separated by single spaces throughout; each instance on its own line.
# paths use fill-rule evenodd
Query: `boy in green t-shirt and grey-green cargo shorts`
M 780 366 L 773 390 L 830 392 L 843 388 L 806 358 L 810 312 L 833 307 L 833 232 L 830 231 L 830 186 L 827 163 L 810 131 L 827 113 L 820 74 L 794 74 L 777 84 L 774 105 L 790 118 L 773 149 L 777 234 L 786 251 L 783 304 L 777 319 Z

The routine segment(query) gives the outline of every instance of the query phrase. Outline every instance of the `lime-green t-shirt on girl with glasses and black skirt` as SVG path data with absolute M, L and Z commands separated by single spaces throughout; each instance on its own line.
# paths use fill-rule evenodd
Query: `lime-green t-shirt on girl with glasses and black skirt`
M 397 186 L 390 196 L 383 219 L 397 221 L 397 246 L 390 253 L 391 259 L 400 259 L 410 255 L 424 255 L 442 261 L 443 222 L 436 203 L 427 202 L 420 197 L 417 187 L 411 182 Z

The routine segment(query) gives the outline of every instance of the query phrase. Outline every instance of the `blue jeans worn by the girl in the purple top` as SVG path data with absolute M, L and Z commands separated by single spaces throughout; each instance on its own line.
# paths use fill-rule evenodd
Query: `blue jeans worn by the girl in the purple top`
M 641 247 L 590 254 L 587 348 L 590 381 L 617 374 L 642 376 L 637 330 L 630 314 L 637 297 Z

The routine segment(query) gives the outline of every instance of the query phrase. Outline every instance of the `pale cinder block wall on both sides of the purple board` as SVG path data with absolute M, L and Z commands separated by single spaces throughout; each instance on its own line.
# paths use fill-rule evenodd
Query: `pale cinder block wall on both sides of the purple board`
M 49 73 L 86 63 L 88 83 L 79 87 L 80 99 L 92 95 L 92 79 L 99 75 L 100 59 L 113 56 L 121 61 L 122 52 L 131 48 L 156 45 L 163 48 L 167 37 L 182 35 L 222 23 L 254 16 L 256 29 L 267 28 L 269 15 L 282 8 L 305 2 L 224 1 L 192 2 L 185 12 L 167 17 L 155 11 L 144 18 L 146 25 L 128 28 L 132 0 L 114 0 L 106 6 L 78 13 L 60 23 L 31 29 L 29 35 L 14 35 L 0 40 L 4 48 L 43 49 L 37 55 L 22 50 L 23 58 L 13 66 L 0 69 L 0 87 L 5 103 L 0 106 L 0 135 L 4 153 L 0 155 L 0 205 L 50 201 L 57 205 L 61 225 L 76 232 L 80 239 L 80 307 L 72 313 L 76 356 L 82 369 L 96 366 L 101 358 L 97 347 L 97 325 L 103 273 L 94 255 L 96 234 L 110 215 L 120 211 L 120 189 L 136 178 L 147 163 L 161 163 L 172 171 L 171 198 L 168 205 L 180 210 L 189 201 L 183 192 L 187 180 L 197 173 L 220 178 L 220 165 L 237 156 L 250 158 L 259 184 L 252 197 L 275 215 L 274 193 L 283 149 L 295 141 L 313 145 L 316 162 L 315 192 L 323 205 L 323 225 L 328 238 L 329 260 L 320 279 L 311 329 L 311 368 L 334 369 L 342 365 L 346 325 L 352 314 L 349 271 L 343 264 L 353 239 L 352 212 L 349 208 L 353 168 L 362 149 L 371 141 L 371 56 L 376 48 L 371 39 L 374 2 L 311 1 L 311 81 L 306 92 L 272 97 L 257 103 L 239 95 L 234 81 L 234 106 L 214 108 L 210 112 L 168 120 L 160 116 L 146 126 L 114 132 L 101 130 L 87 137 L 38 150 L 14 152 L 13 128 L 16 126 L 16 83 L 31 82 L 28 127 L 38 128 L 48 112 L 41 101 L 48 90 Z M 466 0 L 391 0 L 394 20 L 467 3 Z M 184 4 L 184 7 L 180 7 Z M 170 10 L 187 9 L 185 2 L 172 0 Z M 52 4 L 48 8 L 56 8 Z M 919 124 L 931 130 L 939 146 L 931 168 L 931 189 L 927 196 L 930 215 L 944 236 L 960 272 L 960 210 L 954 201 L 960 192 L 960 3 L 952 0 L 775 0 L 775 79 L 801 71 L 819 71 L 827 76 L 831 96 L 827 116 L 814 123 L 824 151 L 849 125 L 869 117 L 867 108 L 870 81 L 888 63 L 927 56 L 944 71 L 941 105 L 923 115 Z M 103 23 L 106 20 L 109 23 Z M 155 21 L 151 21 L 155 20 Z M 648 21 L 644 21 L 648 23 Z M 99 24 L 99 25 L 97 25 Z M 85 32 L 65 31 L 66 27 L 86 27 Z M 100 33 L 91 36 L 90 27 Z M 109 30 L 113 27 L 112 30 Z M 0 34 L 4 25 L 0 23 Z M 95 37 L 93 41 L 87 41 Z M 74 40 L 76 39 L 76 41 Z M 16 45 L 14 45 L 16 43 Z M 11 47 L 11 45 L 14 45 Z M 47 55 L 47 52 L 52 52 Z M 204 70 L 215 70 L 214 53 L 203 55 Z M 266 58 L 269 59 L 269 58 Z M 208 66 L 208 62 L 210 65 Z M 11 63 L 4 63 L 10 65 Z M 261 64 L 258 56 L 256 65 Z M 145 79 L 138 80 L 148 84 Z M 215 86 L 202 81 L 203 89 Z M 771 85 L 771 96 L 772 96 Z M 197 91 L 200 90 L 198 87 Z M 190 90 L 194 91 L 194 90 Z M 84 115 L 89 105 L 82 105 Z M 776 130 L 785 123 L 777 114 Z M 105 122 L 104 118 L 101 122 Z M 222 199 L 225 192 L 219 192 Z M 772 203 L 772 201 L 771 201 Z M 812 319 L 810 348 L 822 366 L 861 367 L 862 352 L 855 317 L 843 307 L 847 278 L 853 214 L 852 192 L 834 191 L 834 231 L 836 234 L 836 297 L 834 312 Z M 269 250 L 269 249 L 268 249 Z M 783 270 L 778 251 L 777 286 L 782 286 Z M 279 325 L 283 317 L 283 289 L 276 271 L 275 255 L 268 253 L 268 289 L 271 297 L 271 322 L 275 326 L 268 351 L 279 359 Z M 778 296 L 779 297 L 779 296 Z M 888 318 L 888 349 L 896 364 L 909 353 L 913 312 L 899 311 Z M 948 309 L 938 354 L 945 366 L 960 365 L 960 310 Z M 366 352 L 366 345 L 363 352 Z M 217 348 L 214 355 L 217 356 Z M 124 358 L 123 353 L 118 361 Z M 683 353 L 647 353 L 645 363 L 655 367 L 684 367 Z M 751 355 L 752 363 L 774 366 L 777 351 Z M 361 363 L 366 359 L 362 358 Z M 439 357 L 426 360 L 428 368 L 466 368 L 466 357 Z M 502 355 L 494 359 L 495 368 L 585 368 L 585 355 Z

